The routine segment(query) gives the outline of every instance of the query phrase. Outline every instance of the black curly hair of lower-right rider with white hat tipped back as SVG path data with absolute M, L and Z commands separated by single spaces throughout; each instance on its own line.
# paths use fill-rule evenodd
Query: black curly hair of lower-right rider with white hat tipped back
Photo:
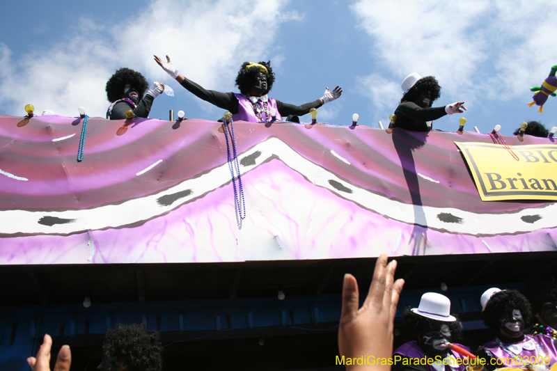
M 483 323 L 494 333 L 501 333 L 499 319 L 505 308 L 520 310 L 524 325 L 532 324 L 532 310 L 528 299 L 517 290 L 503 290 L 493 294 L 482 312 Z

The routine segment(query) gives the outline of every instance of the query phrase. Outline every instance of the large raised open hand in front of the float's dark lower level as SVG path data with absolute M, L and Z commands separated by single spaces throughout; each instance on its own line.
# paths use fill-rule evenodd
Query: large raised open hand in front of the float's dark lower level
M 395 279 L 396 260 L 387 264 L 388 256 L 377 258 L 373 281 L 363 306 L 359 307 L 358 283 L 345 274 L 343 311 L 338 326 L 338 351 L 345 358 L 363 357 L 363 365 L 347 365 L 347 370 L 389 371 L 390 365 L 377 365 L 378 358 L 393 356 L 393 329 L 398 297 L 405 281 Z M 368 356 L 376 364 L 368 365 Z

